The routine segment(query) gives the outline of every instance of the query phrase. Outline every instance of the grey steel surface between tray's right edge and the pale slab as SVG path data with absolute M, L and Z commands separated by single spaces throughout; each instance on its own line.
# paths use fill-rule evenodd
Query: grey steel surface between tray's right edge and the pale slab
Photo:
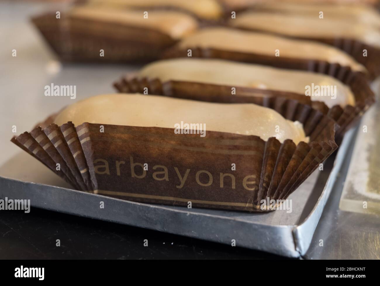
M 380 259 L 380 216 L 339 209 L 353 146 L 347 150 L 305 259 Z

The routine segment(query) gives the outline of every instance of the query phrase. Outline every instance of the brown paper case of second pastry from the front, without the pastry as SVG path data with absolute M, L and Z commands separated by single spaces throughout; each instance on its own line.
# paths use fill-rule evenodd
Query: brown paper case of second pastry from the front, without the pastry
M 328 108 L 321 101 L 311 101 L 310 96 L 249 87 L 234 87 L 235 94 L 232 95 L 232 86 L 186 81 L 161 82 L 157 78 L 138 78 L 133 73 L 115 82 L 114 87 L 122 93 L 143 93 L 144 88 L 148 88 L 149 93 L 155 95 L 218 103 L 255 103 L 271 108 L 277 102 L 274 98 L 295 100 L 299 103 L 312 106 L 313 109 L 334 119 L 339 125 L 339 128 L 336 130 L 336 140 L 340 141 L 345 131 L 374 103 L 375 96 L 363 74 L 351 71 L 346 71 L 345 73 L 338 71 L 336 75 L 337 79 L 341 79 L 351 88 L 355 96 L 355 106 L 348 105 L 342 108 L 336 105 Z

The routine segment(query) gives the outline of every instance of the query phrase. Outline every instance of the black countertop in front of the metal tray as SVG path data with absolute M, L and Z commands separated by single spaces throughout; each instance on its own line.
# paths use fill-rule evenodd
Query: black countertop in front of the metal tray
M 61 246 L 55 246 L 60 239 Z M 144 239 L 148 246 L 144 246 Z M 281 256 L 32 208 L 2 210 L 0 259 L 284 259 Z

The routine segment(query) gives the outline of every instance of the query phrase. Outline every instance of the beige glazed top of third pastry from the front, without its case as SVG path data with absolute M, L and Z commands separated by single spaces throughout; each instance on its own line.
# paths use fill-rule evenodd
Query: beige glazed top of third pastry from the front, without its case
M 213 48 L 221 51 L 272 57 L 275 57 L 276 50 L 278 50 L 278 61 L 282 58 L 321 60 L 329 63 L 339 63 L 341 66 L 349 66 L 355 71 L 366 71 L 364 66 L 360 65 L 345 52 L 326 44 L 232 28 L 204 28 L 184 38 L 175 46 L 175 49 L 184 51 L 183 56 L 187 55 L 187 49 L 195 48 Z

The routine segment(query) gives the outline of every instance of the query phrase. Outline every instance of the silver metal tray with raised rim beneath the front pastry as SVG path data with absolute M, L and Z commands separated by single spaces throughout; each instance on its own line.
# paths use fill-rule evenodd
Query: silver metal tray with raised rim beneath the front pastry
M 323 208 L 355 137 L 345 134 L 336 155 L 290 195 L 292 212 L 249 213 L 143 204 L 71 190 L 67 183 L 26 152 L 0 167 L 0 198 L 30 199 L 32 207 L 112 221 L 197 239 L 297 258 L 306 253 Z M 104 209 L 100 209 L 100 202 Z M 31 210 L 33 211 L 33 209 Z M 27 215 L 27 213 L 25 213 Z

